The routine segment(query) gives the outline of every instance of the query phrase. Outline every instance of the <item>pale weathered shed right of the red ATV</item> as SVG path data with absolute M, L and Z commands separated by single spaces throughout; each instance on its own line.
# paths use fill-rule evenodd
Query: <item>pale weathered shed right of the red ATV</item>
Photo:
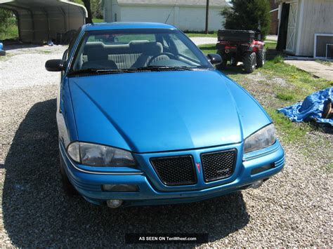
M 333 0 L 275 0 L 280 4 L 278 47 L 297 56 L 333 53 Z M 330 52 L 332 51 L 332 52 Z

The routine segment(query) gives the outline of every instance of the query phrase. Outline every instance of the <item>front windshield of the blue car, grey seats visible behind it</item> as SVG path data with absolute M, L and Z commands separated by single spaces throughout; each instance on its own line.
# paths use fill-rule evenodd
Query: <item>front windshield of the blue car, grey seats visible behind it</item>
M 207 58 L 185 34 L 169 29 L 86 32 L 70 72 L 140 69 L 211 69 Z

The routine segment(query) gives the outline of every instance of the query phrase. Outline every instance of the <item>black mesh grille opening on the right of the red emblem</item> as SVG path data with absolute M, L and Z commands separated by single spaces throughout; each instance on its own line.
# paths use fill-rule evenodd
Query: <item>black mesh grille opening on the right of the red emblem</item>
M 233 175 L 236 164 L 236 156 L 236 149 L 201 154 L 204 181 L 212 182 Z

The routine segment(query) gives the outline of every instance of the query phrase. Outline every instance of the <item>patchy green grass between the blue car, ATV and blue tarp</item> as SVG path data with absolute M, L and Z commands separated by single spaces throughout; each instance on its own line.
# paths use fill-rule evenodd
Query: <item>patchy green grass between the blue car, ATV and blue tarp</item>
M 205 54 L 216 53 L 215 44 L 203 45 L 200 49 Z M 333 86 L 333 81 L 314 78 L 307 72 L 285 64 L 280 56 L 266 61 L 263 68 L 252 74 L 245 74 L 241 66 L 227 67 L 223 73 L 259 100 L 272 117 L 280 139 L 287 143 L 301 142 L 308 131 L 318 128 L 311 123 L 293 123 L 276 109 L 302 101 L 317 90 Z

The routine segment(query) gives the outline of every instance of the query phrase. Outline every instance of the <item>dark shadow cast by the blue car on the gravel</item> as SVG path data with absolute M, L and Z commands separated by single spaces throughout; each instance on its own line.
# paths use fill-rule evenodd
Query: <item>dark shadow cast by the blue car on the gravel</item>
M 55 105 L 48 100 L 30 109 L 6 157 L 2 208 L 13 245 L 119 246 L 126 233 L 136 232 L 209 233 L 209 241 L 216 241 L 249 222 L 240 193 L 200 203 L 117 210 L 67 198 L 60 187 Z

